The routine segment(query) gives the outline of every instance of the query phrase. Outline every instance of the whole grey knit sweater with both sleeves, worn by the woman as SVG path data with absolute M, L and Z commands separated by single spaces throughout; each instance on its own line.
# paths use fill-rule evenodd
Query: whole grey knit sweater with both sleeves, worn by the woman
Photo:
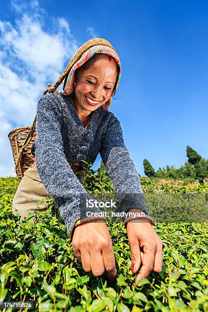
M 116 193 L 134 194 L 133 200 L 126 199 L 125 210 L 137 207 L 148 214 L 139 175 L 124 144 L 120 122 L 112 112 L 97 108 L 85 129 L 69 97 L 47 94 L 37 104 L 36 128 L 33 149 L 38 174 L 54 197 L 68 233 L 86 205 L 81 194 L 92 199 L 70 165 L 80 162 L 84 168 L 81 160 L 93 164 L 98 153 Z

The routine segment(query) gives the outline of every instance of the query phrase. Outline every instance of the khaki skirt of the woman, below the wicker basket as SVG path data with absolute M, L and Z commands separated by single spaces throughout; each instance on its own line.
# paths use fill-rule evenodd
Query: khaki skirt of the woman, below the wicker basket
M 82 182 L 83 176 L 76 175 Z M 37 207 L 37 202 L 42 198 L 52 197 L 45 189 L 37 171 L 36 164 L 33 163 L 23 174 L 12 201 L 12 211 L 15 215 L 20 215 L 20 221 L 31 212 L 44 212 L 47 205 L 42 202 Z

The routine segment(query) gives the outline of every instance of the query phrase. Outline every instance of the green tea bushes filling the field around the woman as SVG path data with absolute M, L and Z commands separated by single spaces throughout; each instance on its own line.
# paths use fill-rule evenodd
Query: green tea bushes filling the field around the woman
M 93 170 L 88 173 L 84 185 L 89 192 L 112 190 L 107 175 Z M 157 201 L 155 197 L 150 200 L 151 194 L 192 193 L 205 198 L 204 218 L 207 215 L 206 185 L 174 184 L 171 180 L 161 183 L 144 177 L 141 184 L 147 202 L 154 202 L 151 211 Z M 207 222 L 155 222 L 153 227 L 163 241 L 163 270 L 151 272 L 136 288 L 122 223 L 107 222 L 114 245 L 116 280 L 110 281 L 106 274 L 94 277 L 74 257 L 52 198 L 44 199 L 46 212 L 33 213 L 22 222 L 12 214 L 17 187 L 17 178 L 0 179 L 0 301 L 33 301 L 33 310 L 41 312 L 208 311 Z

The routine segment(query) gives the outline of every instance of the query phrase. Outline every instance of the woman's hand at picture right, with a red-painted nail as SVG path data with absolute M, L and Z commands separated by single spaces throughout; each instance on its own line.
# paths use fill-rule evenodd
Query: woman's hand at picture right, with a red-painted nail
M 133 273 L 139 270 L 142 263 L 140 273 L 135 280 L 137 284 L 140 279 L 147 277 L 152 270 L 162 272 L 163 242 L 149 222 L 128 221 L 126 228 L 131 248 Z

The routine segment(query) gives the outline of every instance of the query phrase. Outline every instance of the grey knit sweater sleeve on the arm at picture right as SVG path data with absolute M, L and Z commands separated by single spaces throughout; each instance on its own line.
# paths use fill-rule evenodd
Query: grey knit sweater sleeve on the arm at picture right
M 100 156 L 119 195 L 122 211 L 138 208 L 149 215 L 135 163 L 125 146 L 120 121 L 114 114 L 107 125 Z

